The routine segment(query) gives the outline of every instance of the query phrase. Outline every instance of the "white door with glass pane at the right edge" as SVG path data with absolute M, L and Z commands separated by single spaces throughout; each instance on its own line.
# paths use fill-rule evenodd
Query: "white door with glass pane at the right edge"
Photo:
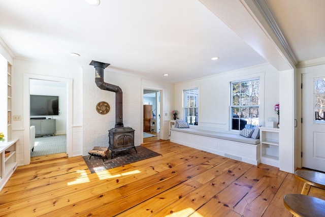
M 325 72 L 303 74 L 302 166 L 325 172 Z

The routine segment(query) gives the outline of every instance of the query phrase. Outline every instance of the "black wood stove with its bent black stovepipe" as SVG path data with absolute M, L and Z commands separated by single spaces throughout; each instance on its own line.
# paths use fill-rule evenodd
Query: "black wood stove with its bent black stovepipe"
M 104 69 L 110 64 L 101 63 L 92 60 L 91 66 L 95 68 L 96 85 L 107 91 L 115 92 L 115 128 L 109 130 L 109 149 L 111 150 L 111 159 L 113 159 L 114 151 L 122 151 L 134 148 L 134 131 L 130 127 L 123 126 L 123 93 L 119 86 L 104 82 Z M 137 152 L 138 153 L 138 152 Z

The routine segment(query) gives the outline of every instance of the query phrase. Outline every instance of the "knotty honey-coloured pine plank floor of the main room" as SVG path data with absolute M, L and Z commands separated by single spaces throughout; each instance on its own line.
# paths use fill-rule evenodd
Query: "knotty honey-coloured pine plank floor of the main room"
M 294 174 L 159 140 L 161 156 L 90 173 L 82 157 L 18 167 L 0 192 L 1 216 L 292 216 Z M 309 195 L 325 199 L 324 191 Z

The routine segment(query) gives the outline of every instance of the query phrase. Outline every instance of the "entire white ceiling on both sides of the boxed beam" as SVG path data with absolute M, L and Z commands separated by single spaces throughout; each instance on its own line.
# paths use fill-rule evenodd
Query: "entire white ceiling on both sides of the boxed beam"
M 266 1 L 299 61 L 325 56 L 325 19 L 317 13 L 325 1 Z M 308 15 L 316 14 L 310 26 Z M 97 7 L 83 0 L 0 0 L 0 37 L 15 58 L 78 66 L 96 60 L 111 71 L 168 82 L 267 63 L 197 0 L 102 0 Z

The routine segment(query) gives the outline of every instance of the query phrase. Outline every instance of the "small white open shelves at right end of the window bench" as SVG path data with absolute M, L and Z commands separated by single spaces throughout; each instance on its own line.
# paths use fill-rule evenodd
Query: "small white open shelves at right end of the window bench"
M 261 163 L 279 167 L 279 130 L 278 128 L 259 128 Z

